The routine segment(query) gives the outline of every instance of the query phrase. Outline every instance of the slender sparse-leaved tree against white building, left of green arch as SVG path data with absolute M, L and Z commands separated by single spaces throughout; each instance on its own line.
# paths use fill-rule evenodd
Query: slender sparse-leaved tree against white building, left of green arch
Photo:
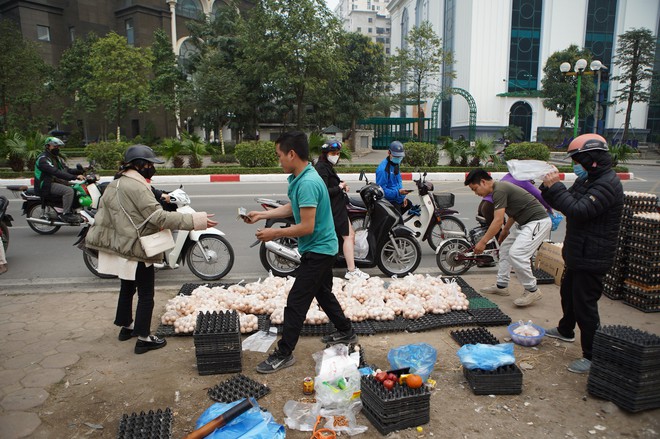
M 441 39 L 433 31 L 431 23 L 422 22 L 405 37 L 406 45 L 397 49 L 393 57 L 395 75 L 401 84 L 411 84 L 412 88 L 401 98 L 411 99 L 417 105 L 419 118 L 418 133 L 423 138 L 424 113 L 422 100 L 435 97 L 438 93 L 442 65 L 454 63 L 452 52 L 446 52 L 441 46 Z M 442 76 L 454 78 L 454 72 L 443 72 Z

